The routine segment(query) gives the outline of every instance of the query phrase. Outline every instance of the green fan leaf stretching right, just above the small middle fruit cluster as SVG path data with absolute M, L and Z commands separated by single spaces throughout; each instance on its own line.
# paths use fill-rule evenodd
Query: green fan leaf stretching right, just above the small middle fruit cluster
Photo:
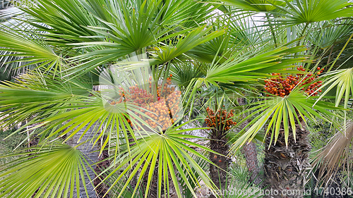
M 184 95 L 183 100 L 190 104 L 196 91 L 202 85 L 206 87 L 215 85 L 225 88 L 229 86 L 249 87 L 258 83 L 258 80 L 270 77 L 268 73 L 287 73 L 287 68 L 295 63 L 306 61 L 306 58 L 285 58 L 291 56 L 292 53 L 303 51 L 304 47 L 280 47 L 277 49 L 264 49 L 266 52 L 258 54 L 256 49 L 245 52 L 237 51 L 233 56 L 229 57 L 224 63 L 213 61 L 205 71 L 204 78 L 193 78 L 191 83 L 186 88 L 186 92 L 191 92 L 189 95 Z

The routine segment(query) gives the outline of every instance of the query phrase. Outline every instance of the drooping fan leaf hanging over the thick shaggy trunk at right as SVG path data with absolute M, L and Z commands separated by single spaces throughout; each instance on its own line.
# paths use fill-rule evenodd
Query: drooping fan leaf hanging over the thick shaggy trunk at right
M 274 143 L 277 142 L 281 128 L 284 129 L 285 143 L 288 144 L 289 130 L 292 131 L 295 140 L 296 125 L 304 128 L 306 119 L 314 122 L 316 119 L 323 119 L 332 123 L 332 120 L 328 116 L 337 116 L 332 110 L 343 110 L 342 107 L 335 107 L 334 104 L 323 101 L 318 101 L 316 106 L 312 107 L 315 103 L 316 99 L 307 98 L 304 92 L 294 89 L 288 96 L 269 97 L 264 101 L 251 104 L 256 106 L 246 111 L 250 112 L 250 115 L 244 118 L 244 120 L 248 120 L 257 114 L 258 116 L 253 118 L 240 132 L 241 137 L 234 142 L 232 149 L 237 150 L 247 141 L 251 141 L 264 127 L 266 128 L 266 135 L 268 132 L 272 132 L 270 144 L 273 142 L 273 139 Z M 246 130 L 248 127 L 249 130 Z

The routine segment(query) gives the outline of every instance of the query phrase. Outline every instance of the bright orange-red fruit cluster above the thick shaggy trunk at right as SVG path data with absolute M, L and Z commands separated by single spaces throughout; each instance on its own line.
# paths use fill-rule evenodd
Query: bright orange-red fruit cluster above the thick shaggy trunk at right
M 316 90 L 321 87 L 321 82 L 313 82 L 318 78 L 318 75 L 321 74 L 323 69 L 317 68 L 318 72 L 313 74 L 309 72 L 308 74 L 297 74 L 297 75 L 286 75 L 286 77 L 282 77 L 280 73 L 273 73 L 272 75 L 277 75 L 275 78 L 270 78 L 269 80 L 265 80 L 265 89 L 270 94 L 285 97 L 289 95 L 290 92 L 294 89 L 294 87 L 305 87 L 301 88 L 306 92 L 306 94 L 312 94 L 316 96 L 318 92 L 322 92 L 321 90 Z M 305 71 L 305 68 L 302 66 L 298 67 L 297 70 Z M 299 85 L 300 83 L 300 85 Z M 269 95 L 267 95 L 269 96 Z

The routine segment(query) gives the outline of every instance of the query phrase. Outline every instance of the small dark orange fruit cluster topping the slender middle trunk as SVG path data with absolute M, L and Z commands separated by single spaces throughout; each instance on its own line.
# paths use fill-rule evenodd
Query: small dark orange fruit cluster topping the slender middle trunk
M 229 113 L 225 109 L 219 109 L 216 113 L 209 107 L 206 109 L 208 116 L 205 118 L 205 122 L 209 128 L 218 128 L 219 130 L 229 130 L 233 125 L 237 123 L 232 120 L 234 116 L 233 110 Z

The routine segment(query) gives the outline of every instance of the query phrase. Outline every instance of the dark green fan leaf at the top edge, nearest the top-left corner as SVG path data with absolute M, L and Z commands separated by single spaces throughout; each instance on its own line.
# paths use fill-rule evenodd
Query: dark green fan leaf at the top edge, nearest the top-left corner
M 99 23 L 83 7 L 82 2 L 42 0 L 37 6 L 22 10 L 30 16 L 26 22 L 37 27 L 37 31 L 41 31 L 41 35 L 53 46 L 67 47 L 66 44 L 72 42 L 103 41 L 100 35 L 85 28 Z

